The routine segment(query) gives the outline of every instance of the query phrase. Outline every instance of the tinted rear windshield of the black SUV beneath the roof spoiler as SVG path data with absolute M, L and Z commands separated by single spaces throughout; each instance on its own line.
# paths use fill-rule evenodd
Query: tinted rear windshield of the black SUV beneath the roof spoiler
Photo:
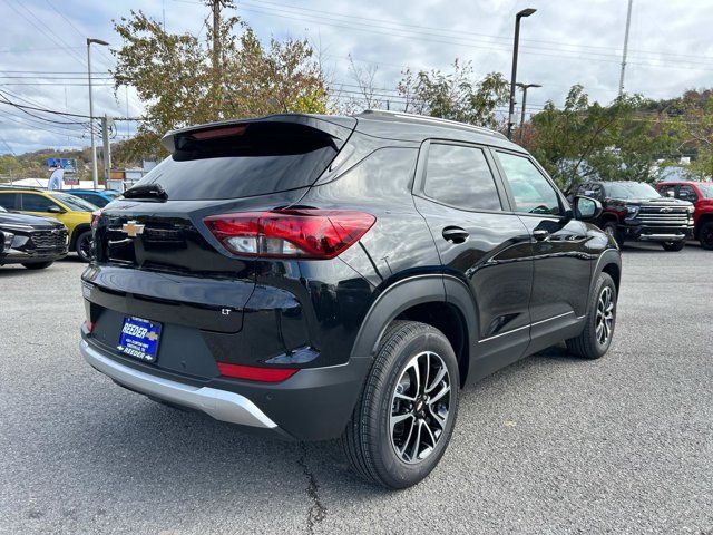
M 178 135 L 175 153 L 137 185 L 170 201 L 263 195 L 312 185 L 334 159 L 336 139 L 303 125 L 252 123 Z

